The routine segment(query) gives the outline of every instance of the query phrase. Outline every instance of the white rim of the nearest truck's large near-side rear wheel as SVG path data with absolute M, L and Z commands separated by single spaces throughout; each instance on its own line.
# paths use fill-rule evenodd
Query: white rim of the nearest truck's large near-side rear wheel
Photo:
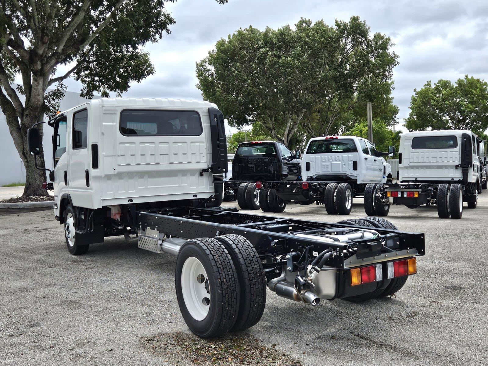
M 189 257 L 182 268 L 182 292 L 186 309 L 195 320 L 203 320 L 210 308 L 210 285 L 203 264 Z

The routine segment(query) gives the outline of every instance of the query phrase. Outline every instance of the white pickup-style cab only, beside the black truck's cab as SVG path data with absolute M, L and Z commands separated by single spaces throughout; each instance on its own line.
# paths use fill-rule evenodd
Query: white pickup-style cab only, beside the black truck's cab
M 388 153 L 386 153 L 387 155 Z M 350 181 L 358 184 L 392 180 L 391 166 L 366 139 L 326 136 L 310 139 L 303 156 L 304 181 Z

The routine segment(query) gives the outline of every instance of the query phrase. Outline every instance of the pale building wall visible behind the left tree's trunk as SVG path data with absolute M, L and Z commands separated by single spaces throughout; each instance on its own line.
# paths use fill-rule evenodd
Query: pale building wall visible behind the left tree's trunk
M 84 102 L 86 102 L 86 99 L 81 98 L 79 93 L 66 92 L 64 99 L 61 101 L 60 110 L 63 111 Z M 52 169 L 53 167 L 52 134 L 53 128 L 44 124 L 43 147 L 46 167 L 48 169 Z M 12 136 L 10 136 L 5 115 L 0 110 L 0 186 L 14 182 L 25 182 L 25 167 L 15 148 Z

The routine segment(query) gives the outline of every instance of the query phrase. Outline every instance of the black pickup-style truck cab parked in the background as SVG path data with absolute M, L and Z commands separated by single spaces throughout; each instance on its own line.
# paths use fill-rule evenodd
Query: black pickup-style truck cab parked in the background
M 241 142 L 232 161 L 234 181 L 300 180 L 300 152 L 275 141 Z

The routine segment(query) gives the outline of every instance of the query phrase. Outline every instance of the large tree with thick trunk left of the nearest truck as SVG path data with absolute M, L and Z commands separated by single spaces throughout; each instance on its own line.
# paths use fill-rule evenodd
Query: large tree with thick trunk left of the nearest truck
M 164 9 L 168 1 L 175 0 L 0 0 L 0 108 L 25 165 L 24 196 L 46 194 L 27 129 L 62 98 L 62 81 L 74 76 L 83 96 L 108 96 L 153 74 L 142 46 L 169 33 L 175 21 Z M 60 65 L 68 70 L 58 75 Z M 42 153 L 38 164 L 44 167 Z

